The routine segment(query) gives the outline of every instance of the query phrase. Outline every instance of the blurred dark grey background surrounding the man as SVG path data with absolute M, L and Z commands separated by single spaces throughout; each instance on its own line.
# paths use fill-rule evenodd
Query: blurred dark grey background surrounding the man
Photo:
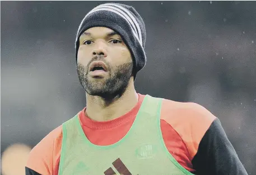
M 1 1 L 3 174 L 25 174 L 8 165 L 24 166 L 32 147 L 86 105 L 75 36 L 85 14 L 101 3 Z M 147 64 L 137 74 L 138 93 L 203 105 L 255 174 L 256 2 L 119 3 L 145 20 Z

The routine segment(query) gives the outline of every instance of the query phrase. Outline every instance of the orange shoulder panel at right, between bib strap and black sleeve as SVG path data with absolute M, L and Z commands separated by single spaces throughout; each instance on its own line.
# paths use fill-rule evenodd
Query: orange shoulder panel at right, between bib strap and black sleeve
M 190 157 L 197 153 L 199 143 L 216 116 L 197 103 L 181 103 L 163 99 L 161 119 L 166 121 L 186 144 Z

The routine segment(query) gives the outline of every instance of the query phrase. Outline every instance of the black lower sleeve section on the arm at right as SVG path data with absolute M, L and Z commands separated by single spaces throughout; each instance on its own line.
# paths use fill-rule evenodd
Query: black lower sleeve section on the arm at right
M 218 118 L 203 135 L 192 164 L 198 175 L 248 175 Z

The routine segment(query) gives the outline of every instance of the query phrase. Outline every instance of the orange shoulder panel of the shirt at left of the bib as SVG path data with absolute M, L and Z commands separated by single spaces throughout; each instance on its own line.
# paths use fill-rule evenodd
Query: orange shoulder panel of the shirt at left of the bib
M 26 168 L 40 174 L 52 174 L 62 144 L 62 125 L 46 135 L 30 152 Z

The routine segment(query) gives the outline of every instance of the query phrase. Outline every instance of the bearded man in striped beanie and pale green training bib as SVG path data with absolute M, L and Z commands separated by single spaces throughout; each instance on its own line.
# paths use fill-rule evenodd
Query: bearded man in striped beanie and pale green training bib
M 220 120 L 201 105 L 138 94 L 145 24 L 124 4 L 83 18 L 77 72 L 86 107 L 32 149 L 26 174 L 247 174 Z

